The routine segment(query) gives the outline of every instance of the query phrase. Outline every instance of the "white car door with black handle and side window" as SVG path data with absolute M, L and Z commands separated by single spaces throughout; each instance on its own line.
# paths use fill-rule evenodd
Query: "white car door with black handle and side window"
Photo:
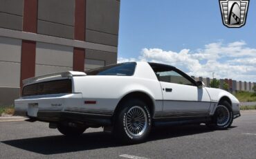
M 205 88 L 196 86 L 192 78 L 172 67 L 156 75 L 163 90 L 163 118 L 209 115 L 210 96 Z

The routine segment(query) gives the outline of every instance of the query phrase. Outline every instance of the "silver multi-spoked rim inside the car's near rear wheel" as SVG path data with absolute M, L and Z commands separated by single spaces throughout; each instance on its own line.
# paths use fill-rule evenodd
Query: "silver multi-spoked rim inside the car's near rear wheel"
M 127 112 L 125 127 L 130 135 L 138 137 L 147 129 L 147 113 L 140 106 L 133 106 Z

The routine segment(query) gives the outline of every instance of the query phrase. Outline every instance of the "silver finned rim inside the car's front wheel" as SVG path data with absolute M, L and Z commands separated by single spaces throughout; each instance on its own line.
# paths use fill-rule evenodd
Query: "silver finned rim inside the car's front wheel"
M 230 120 L 230 111 L 226 106 L 219 105 L 216 108 L 217 126 L 223 127 Z

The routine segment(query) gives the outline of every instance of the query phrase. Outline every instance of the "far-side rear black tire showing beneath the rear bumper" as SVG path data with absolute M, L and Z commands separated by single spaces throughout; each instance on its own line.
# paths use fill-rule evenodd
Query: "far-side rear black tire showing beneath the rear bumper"
M 65 124 L 59 124 L 57 126 L 58 131 L 62 133 L 63 135 L 66 135 L 68 137 L 75 137 L 82 135 L 84 131 L 87 129 L 86 127 L 68 127 L 68 125 Z

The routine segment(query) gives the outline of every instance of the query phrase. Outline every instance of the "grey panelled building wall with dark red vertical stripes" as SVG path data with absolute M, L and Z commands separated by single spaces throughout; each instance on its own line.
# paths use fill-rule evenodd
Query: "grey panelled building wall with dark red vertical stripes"
M 118 0 L 0 0 L 0 106 L 28 77 L 115 64 L 119 12 Z

